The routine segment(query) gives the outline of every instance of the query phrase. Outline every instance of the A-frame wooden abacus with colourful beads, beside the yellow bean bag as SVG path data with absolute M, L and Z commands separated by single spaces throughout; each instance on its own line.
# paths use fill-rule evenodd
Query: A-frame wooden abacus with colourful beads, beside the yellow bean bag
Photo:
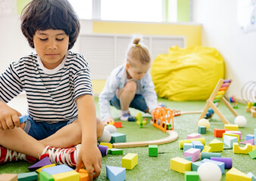
M 206 100 L 206 105 L 198 121 L 201 118 L 204 118 L 204 116 L 208 114 L 209 109 L 210 110 L 212 109 L 214 112 L 216 112 L 216 114 L 220 117 L 220 120 L 223 121 L 224 124 L 229 124 L 229 121 L 224 117 L 224 115 L 217 108 L 217 105 L 218 103 L 220 103 L 220 101 L 225 104 L 225 106 L 230 110 L 230 112 L 233 113 L 233 115 L 238 116 L 236 111 L 233 109 L 232 106 L 230 106 L 229 102 L 224 97 L 224 94 L 226 93 L 226 90 L 229 88 L 229 85 L 231 84 L 231 82 L 232 82 L 231 79 L 220 78 L 211 96 L 209 97 L 208 100 Z

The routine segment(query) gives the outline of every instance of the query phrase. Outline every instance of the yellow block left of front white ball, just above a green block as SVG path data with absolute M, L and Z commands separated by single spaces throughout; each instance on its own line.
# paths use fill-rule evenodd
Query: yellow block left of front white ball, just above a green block
M 192 161 L 188 161 L 184 158 L 176 157 L 170 159 L 170 169 L 180 173 L 191 171 L 191 164 Z

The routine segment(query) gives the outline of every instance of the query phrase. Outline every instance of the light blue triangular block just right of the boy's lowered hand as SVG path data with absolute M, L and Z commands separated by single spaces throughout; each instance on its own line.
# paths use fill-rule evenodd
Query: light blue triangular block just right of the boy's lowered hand
M 123 181 L 126 179 L 126 169 L 124 167 L 106 166 L 106 174 L 110 181 Z

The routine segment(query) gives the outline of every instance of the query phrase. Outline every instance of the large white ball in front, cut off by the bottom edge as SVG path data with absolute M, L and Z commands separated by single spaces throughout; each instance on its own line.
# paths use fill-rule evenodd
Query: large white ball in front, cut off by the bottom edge
M 198 175 L 201 181 L 220 181 L 222 173 L 217 164 L 205 162 L 198 167 Z

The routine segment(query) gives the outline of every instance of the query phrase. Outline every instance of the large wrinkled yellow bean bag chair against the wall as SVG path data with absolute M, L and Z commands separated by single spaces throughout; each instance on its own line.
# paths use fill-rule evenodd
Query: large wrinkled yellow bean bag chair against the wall
M 220 78 L 224 60 L 214 48 L 173 46 L 159 54 L 151 67 L 158 97 L 168 100 L 207 100 Z

